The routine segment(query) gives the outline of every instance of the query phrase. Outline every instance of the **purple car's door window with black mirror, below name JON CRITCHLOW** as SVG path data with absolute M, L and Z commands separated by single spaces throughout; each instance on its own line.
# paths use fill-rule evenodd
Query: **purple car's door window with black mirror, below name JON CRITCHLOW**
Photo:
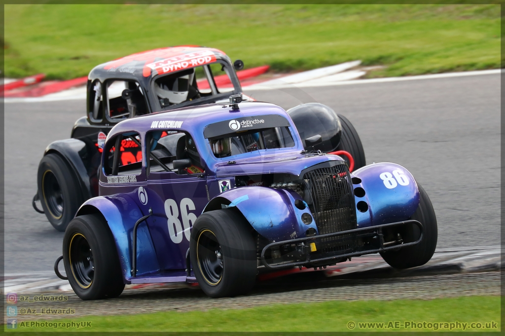
M 179 175 L 204 173 L 200 155 L 191 135 L 180 131 L 151 131 L 146 135 L 149 161 L 147 174 L 174 172 Z M 175 165 L 175 160 L 187 164 Z

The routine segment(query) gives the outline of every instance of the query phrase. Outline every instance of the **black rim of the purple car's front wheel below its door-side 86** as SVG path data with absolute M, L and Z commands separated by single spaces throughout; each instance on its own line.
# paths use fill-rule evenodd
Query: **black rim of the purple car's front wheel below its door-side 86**
M 196 258 L 205 280 L 213 286 L 219 284 L 224 270 L 223 252 L 212 231 L 200 232 L 196 243 Z

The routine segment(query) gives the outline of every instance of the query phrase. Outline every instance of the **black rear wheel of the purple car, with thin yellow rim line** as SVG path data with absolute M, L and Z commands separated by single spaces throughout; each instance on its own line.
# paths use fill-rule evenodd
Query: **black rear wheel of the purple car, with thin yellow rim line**
M 82 300 L 115 298 L 125 288 L 114 238 L 98 214 L 77 216 L 69 223 L 63 262 L 68 281 Z

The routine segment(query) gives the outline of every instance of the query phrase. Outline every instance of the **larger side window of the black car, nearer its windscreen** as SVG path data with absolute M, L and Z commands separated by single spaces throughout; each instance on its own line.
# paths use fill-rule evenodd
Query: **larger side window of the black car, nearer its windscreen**
M 120 121 L 147 113 L 144 94 L 137 82 L 109 80 L 106 87 L 109 120 Z

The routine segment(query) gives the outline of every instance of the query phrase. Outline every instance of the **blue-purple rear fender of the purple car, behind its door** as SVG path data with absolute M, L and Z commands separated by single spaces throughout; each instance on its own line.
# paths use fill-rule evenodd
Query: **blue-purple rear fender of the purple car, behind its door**
M 105 217 L 112 232 L 125 283 L 131 281 L 133 226 L 144 214 L 136 203 L 125 194 L 98 196 L 84 202 L 76 216 L 99 211 Z M 137 276 L 160 270 L 156 251 L 144 223 L 137 228 Z

